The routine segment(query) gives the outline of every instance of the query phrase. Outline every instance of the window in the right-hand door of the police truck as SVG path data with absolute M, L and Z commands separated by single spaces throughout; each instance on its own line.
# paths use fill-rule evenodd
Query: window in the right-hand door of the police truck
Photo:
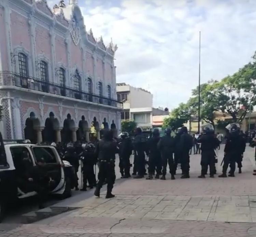
M 46 164 L 57 163 L 57 158 L 54 154 L 54 151 L 50 147 L 33 147 L 35 154 L 35 160 L 44 161 Z

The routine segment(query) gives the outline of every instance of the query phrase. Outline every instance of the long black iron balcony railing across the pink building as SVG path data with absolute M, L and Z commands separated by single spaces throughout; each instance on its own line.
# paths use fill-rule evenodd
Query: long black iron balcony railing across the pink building
M 45 82 L 38 78 L 27 77 L 8 71 L 0 71 L 0 85 L 12 85 L 34 91 L 41 91 L 45 93 L 66 96 L 69 98 L 94 102 L 97 104 L 109 105 L 121 109 L 123 108 L 122 102 L 112 98 L 87 93 L 85 91 L 75 90 L 67 86 L 62 86 L 60 84 Z

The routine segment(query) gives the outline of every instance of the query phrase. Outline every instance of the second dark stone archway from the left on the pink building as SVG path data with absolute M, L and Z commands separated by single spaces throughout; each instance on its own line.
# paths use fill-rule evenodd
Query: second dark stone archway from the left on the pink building
M 50 112 L 49 117 L 45 120 L 45 127 L 42 131 L 43 142 L 52 143 L 60 142 L 59 121 L 54 117 L 54 113 Z

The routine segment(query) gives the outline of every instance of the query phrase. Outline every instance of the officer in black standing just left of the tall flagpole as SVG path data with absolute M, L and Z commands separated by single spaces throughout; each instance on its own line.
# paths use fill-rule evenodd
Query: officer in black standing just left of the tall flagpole
M 181 138 L 178 142 L 177 149 L 181 159 L 181 169 L 183 175 L 181 178 L 189 178 L 189 150 L 193 145 L 193 139 L 188 134 L 187 127 L 181 128 Z

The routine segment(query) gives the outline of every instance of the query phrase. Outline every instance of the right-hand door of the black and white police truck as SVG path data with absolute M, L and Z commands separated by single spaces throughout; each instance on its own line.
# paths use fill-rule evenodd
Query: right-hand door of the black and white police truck
M 64 170 L 62 162 L 54 147 L 51 146 L 31 146 L 35 163 L 43 161 L 47 176 L 51 178 L 50 191 L 58 192 L 65 184 Z

